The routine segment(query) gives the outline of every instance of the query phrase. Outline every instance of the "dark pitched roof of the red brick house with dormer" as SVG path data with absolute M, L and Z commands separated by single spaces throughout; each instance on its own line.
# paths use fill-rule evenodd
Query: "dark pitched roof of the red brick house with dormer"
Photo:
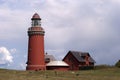
M 90 62 L 95 62 L 95 60 L 90 56 L 88 52 L 80 52 L 80 51 L 69 51 L 68 53 L 71 53 L 79 62 L 85 62 L 84 56 L 89 56 Z

